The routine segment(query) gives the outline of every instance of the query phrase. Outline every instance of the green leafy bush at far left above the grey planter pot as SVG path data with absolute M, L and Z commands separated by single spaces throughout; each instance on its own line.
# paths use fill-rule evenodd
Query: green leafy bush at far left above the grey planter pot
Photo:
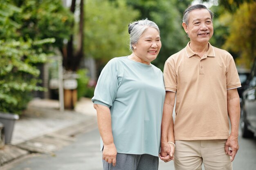
M 22 10 L 15 5 L 0 0 L 0 111 L 22 113 L 30 100 L 31 91 L 43 90 L 37 86 L 39 63 L 47 60 L 43 44 L 54 39 L 33 41 L 23 40 L 14 15 Z

